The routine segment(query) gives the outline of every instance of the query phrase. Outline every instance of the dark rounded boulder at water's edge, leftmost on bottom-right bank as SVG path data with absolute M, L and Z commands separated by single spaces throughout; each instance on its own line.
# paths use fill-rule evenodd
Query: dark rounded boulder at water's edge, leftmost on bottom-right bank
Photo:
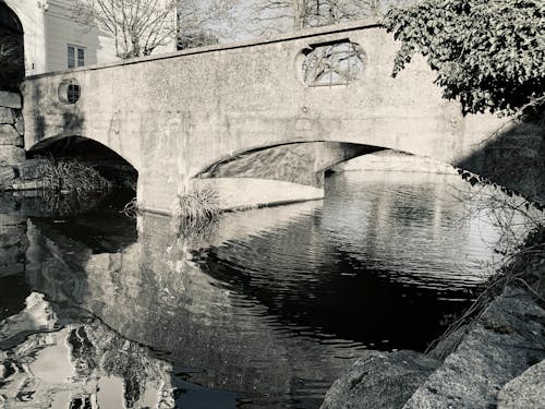
M 372 353 L 331 385 L 320 409 L 401 408 L 439 364 L 415 351 Z

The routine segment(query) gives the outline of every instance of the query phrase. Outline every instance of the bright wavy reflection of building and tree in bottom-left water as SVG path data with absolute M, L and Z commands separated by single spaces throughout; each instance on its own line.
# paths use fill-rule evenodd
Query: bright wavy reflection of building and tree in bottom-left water
M 17 330 L 32 330 L 36 320 L 29 321 L 28 316 L 38 322 L 48 316 L 47 325 L 35 327 L 25 341 L 0 350 L 0 404 L 10 408 L 49 407 L 64 399 L 71 409 L 98 408 L 100 401 L 116 405 L 108 395 L 101 395 L 106 382 L 119 387 L 123 401 L 119 405 L 124 408 L 173 407 L 169 363 L 99 322 L 69 324 L 49 333 L 58 328 L 56 313 L 63 315 L 65 311 L 53 305 L 57 311 L 52 313 L 51 305 L 34 294 L 25 310 L 0 324 L 13 326 L 13 330 L 4 332 L 12 336 Z

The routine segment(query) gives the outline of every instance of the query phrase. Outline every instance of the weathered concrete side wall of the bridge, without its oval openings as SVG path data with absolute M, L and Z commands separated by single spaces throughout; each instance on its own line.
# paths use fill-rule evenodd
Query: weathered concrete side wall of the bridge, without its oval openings
M 342 39 L 364 50 L 362 77 L 348 86 L 305 85 L 303 51 Z M 441 99 L 422 58 L 392 79 L 398 47 L 377 24 L 356 22 L 28 77 L 25 146 L 94 139 L 138 170 L 140 205 L 166 212 L 196 175 L 252 149 L 342 142 L 449 164 L 479 151 L 505 120 L 463 117 L 457 103 Z M 81 86 L 76 104 L 59 99 L 65 80 Z

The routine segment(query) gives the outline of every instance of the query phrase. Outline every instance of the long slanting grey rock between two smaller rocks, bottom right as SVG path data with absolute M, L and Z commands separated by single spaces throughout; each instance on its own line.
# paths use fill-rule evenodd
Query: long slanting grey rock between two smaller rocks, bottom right
M 504 385 L 545 358 L 543 334 L 545 311 L 530 292 L 508 287 L 403 408 L 496 407 Z

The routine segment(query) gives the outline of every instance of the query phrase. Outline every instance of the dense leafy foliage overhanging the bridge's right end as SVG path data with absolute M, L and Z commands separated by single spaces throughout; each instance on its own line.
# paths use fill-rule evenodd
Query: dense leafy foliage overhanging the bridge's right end
M 424 0 L 388 12 L 401 40 L 392 75 L 415 52 L 464 112 L 513 113 L 545 99 L 545 1 Z

